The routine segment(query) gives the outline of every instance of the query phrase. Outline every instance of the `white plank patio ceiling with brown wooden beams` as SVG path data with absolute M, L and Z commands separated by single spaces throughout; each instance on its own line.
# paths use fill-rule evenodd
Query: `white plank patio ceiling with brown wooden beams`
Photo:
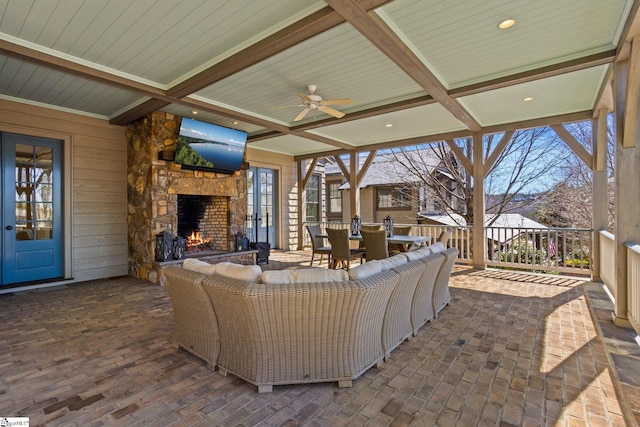
M 0 97 L 119 125 L 195 116 L 298 159 L 585 120 L 612 108 L 639 3 L 5 1 Z M 308 85 L 354 102 L 294 121 Z

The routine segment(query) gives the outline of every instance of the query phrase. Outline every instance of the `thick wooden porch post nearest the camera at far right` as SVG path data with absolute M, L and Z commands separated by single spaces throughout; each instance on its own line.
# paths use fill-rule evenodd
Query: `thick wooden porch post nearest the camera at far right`
M 629 59 L 615 63 L 616 105 L 616 285 L 613 321 L 631 326 L 628 320 L 627 249 L 625 242 L 640 242 L 640 36 L 632 41 Z

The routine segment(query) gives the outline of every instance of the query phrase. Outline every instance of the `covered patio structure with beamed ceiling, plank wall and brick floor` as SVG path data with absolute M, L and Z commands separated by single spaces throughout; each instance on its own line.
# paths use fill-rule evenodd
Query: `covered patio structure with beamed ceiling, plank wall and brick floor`
M 53 234 L 59 274 L 24 289 L 12 286 L 27 280 L 0 282 L 0 416 L 82 426 L 637 425 L 640 0 L 221 3 L 0 2 L 3 206 L 16 202 L 5 136 L 46 138 L 62 155 L 63 221 Z M 515 26 L 500 28 L 507 18 Z M 314 94 L 353 102 L 324 114 L 332 110 Z M 247 132 L 243 169 L 187 171 L 165 157 L 183 117 Z M 591 122 L 590 147 L 569 132 L 577 121 Z M 231 238 L 247 213 L 246 168 L 269 170 L 273 247 L 292 251 L 274 251 L 263 268 L 308 265 L 305 188 L 320 159 L 357 189 L 378 151 L 444 142 L 473 179 L 482 218 L 496 158 L 514 132 L 540 126 L 592 173 L 589 268 L 611 284 L 615 306 L 586 279 L 487 270 L 479 222 L 451 305 L 352 389 L 258 395 L 170 346 L 171 304 L 150 281 L 177 194 L 215 187 L 210 196 L 230 207 L 222 217 L 238 220 L 221 225 Z M 490 153 L 487 135 L 500 141 Z M 605 231 L 609 179 L 617 222 Z M 360 202 L 351 192 L 348 217 Z M 15 255 L 15 222 L 2 223 L 3 260 Z

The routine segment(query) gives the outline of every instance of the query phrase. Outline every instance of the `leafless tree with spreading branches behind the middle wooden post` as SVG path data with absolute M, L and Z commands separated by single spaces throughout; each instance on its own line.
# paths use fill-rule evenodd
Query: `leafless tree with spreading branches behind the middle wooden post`
M 485 160 L 501 138 L 502 134 L 484 136 Z M 471 141 L 460 140 L 456 144 L 472 159 Z M 486 211 L 495 214 L 495 218 L 519 210 L 531 201 L 518 195 L 544 192 L 562 179 L 558 170 L 566 165 L 569 153 L 561 144 L 549 128 L 515 132 L 485 178 L 485 193 L 492 195 L 487 197 Z M 427 197 L 444 213 L 459 215 L 467 224 L 473 224 L 473 177 L 446 143 L 394 149 L 392 156 L 394 162 L 389 165 L 394 165 L 397 174 L 407 176 L 406 182 L 427 189 Z

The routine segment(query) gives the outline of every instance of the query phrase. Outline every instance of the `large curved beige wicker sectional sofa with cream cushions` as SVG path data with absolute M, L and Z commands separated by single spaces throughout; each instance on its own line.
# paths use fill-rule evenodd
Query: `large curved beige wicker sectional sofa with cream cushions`
M 258 266 L 228 263 L 167 268 L 174 344 L 258 392 L 327 381 L 350 387 L 450 300 L 457 250 L 432 249 L 349 272 L 262 273 Z

